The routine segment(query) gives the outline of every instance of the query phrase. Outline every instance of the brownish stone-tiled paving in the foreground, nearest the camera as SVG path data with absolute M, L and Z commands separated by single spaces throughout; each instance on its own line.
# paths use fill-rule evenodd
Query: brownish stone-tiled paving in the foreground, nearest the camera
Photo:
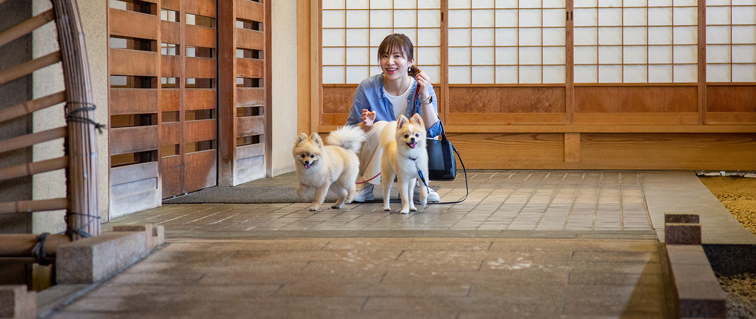
M 172 240 L 52 318 L 663 318 L 655 240 Z

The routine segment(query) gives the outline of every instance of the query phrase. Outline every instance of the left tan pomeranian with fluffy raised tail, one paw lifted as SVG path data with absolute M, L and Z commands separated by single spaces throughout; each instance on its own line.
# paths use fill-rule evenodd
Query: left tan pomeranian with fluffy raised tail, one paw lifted
M 304 200 L 307 191 L 311 187 L 315 189 L 310 210 L 318 210 L 329 188 L 339 197 L 332 208 L 341 208 L 355 198 L 355 181 L 360 169 L 356 153 L 365 141 L 365 133 L 356 126 L 345 126 L 330 132 L 326 141 L 329 145 L 323 144 L 318 133 L 309 137 L 301 133 L 292 149 L 299 180 L 296 194 Z

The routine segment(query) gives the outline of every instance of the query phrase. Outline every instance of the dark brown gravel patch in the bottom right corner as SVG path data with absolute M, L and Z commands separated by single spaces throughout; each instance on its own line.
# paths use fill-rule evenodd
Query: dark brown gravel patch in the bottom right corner
M 727 293 L 727 319 L 756 318 L 756 274 L 717 277 Z

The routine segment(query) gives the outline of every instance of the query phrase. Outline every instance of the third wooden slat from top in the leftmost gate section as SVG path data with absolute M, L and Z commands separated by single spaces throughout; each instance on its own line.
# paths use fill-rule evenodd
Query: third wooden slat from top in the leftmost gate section
M 111 88 L 110 115 L 157 113 L 156 88 Z

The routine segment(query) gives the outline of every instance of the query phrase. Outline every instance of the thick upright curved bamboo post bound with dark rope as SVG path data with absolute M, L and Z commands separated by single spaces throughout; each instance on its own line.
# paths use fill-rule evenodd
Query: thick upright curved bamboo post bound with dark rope
M 76 0 L 53 0 L 52 3 L 67 92 L 67 155 L 70 159 L 67 234 L 72 240 L 79 240 L 86 237 L 85 234 L 100 234 L 95 104 L 79 7 Z

